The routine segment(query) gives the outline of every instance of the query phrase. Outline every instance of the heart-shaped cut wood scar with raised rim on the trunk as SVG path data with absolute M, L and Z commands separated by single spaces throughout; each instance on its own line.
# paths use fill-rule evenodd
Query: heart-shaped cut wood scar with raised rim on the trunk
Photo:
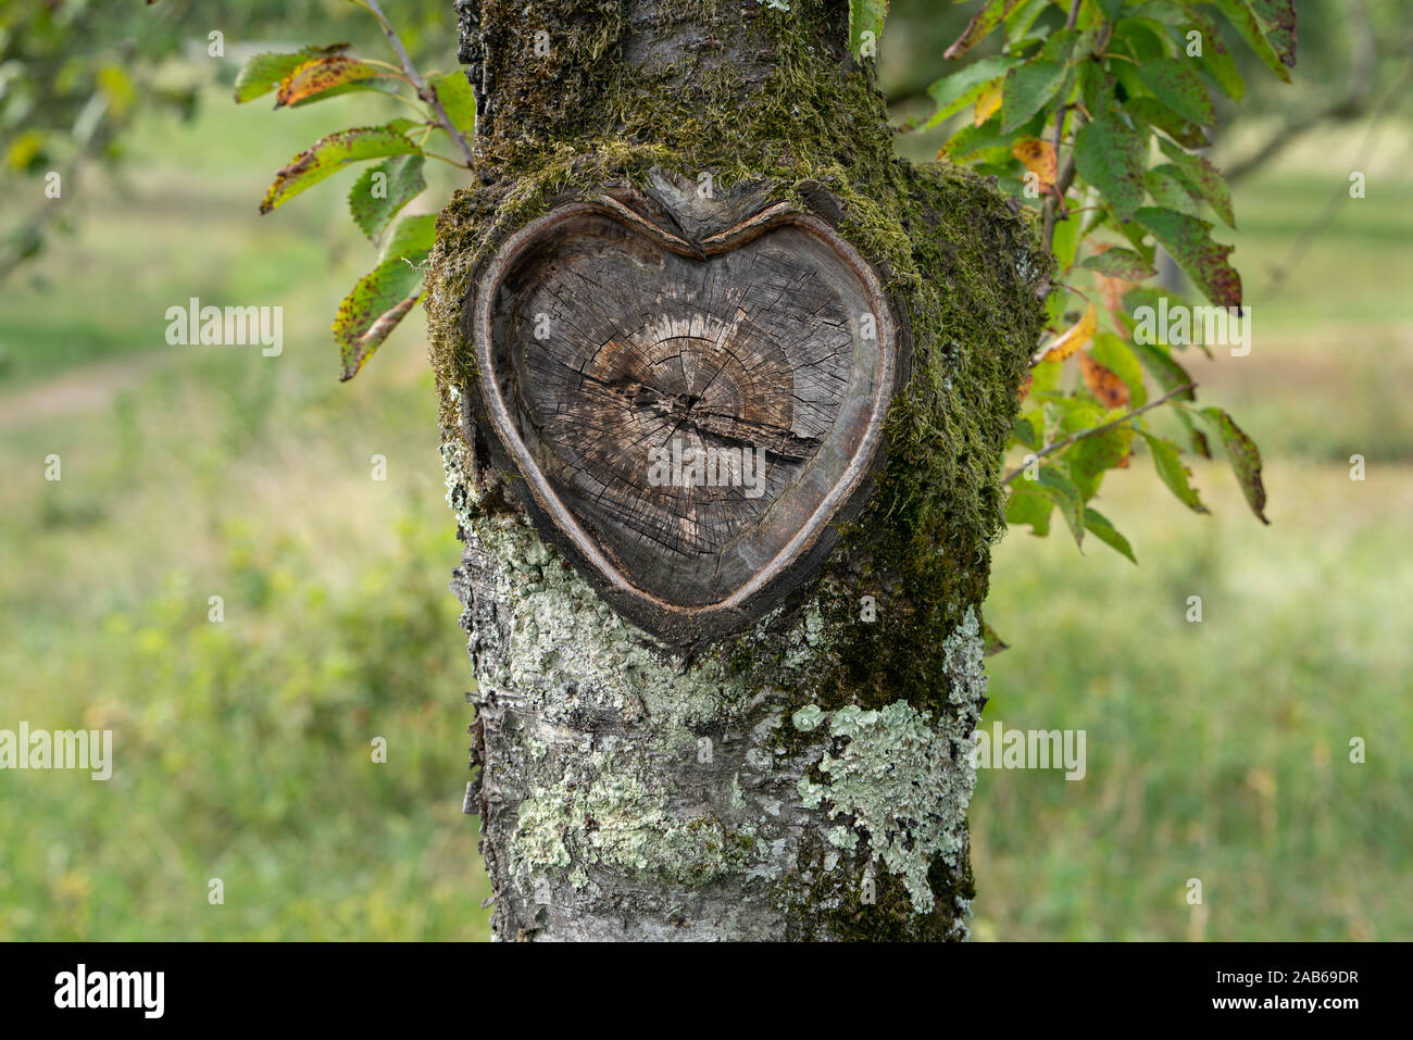
M 893 389 L 877 277 L 784 205 L 698 243 L 610 196 L 561 206 L 502 246 L 475 322 L 537 526 L 670 642 L 760 613 L 827 551 Z

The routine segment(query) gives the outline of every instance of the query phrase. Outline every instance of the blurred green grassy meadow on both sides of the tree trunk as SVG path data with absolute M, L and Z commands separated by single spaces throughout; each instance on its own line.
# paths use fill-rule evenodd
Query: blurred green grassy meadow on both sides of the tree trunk
M 68 203 L 81 233 L 0 297 L 0 725 L 109 728 L 116 756 L 106 784 L 0 779 L 0 938 L 486 935 L 420 329 L 339 386 L 328 322 L 373 261 L 341 212 L 353 174 L 256 215 L 294 151 L 370 122 L 345 105 L 213 95 L 144 127 L 124 179 Z M 1101 506 L 1140 567 L 1063 537 L 998 551 L 988 619 L 1013 649 L 986 718 L 1085 729 L 1088 776 L 983 773 L 981 938 L 1413 938 L 1403 137 L 1266 287 L 1358 147 L 1242 185 L 1253 352 L 1195 366 L 1267 454 L 1273 526 L 1221 468 L 1201 517 L 1140 459 Z M 167 346 L 191 295 L 283 307 L 283 356 Z

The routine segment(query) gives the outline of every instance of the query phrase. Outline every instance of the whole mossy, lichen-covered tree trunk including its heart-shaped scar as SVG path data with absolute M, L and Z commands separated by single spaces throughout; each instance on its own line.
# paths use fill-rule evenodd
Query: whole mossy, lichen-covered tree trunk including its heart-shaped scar
M 496 937 L 965 937 L 1033 225 L 893 157 L 842 1 L 456 10 L 428 315 Z

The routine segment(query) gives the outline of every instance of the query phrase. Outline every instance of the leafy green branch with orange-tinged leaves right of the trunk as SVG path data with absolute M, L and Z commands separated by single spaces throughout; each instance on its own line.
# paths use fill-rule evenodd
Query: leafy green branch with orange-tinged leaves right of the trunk
M 1243 342 L 1249 333 L 1232 249 L 1212 237 L 1217 222 L 1235 226 L 1231 189 L 1204 154 L 1214 98 L 1245 93 L 1218 16 L 1289 82 L 1293 0 L 979 0 L 942 55 L 955 71 L 927 88 L 934 112 L 923 129 L 952 126 L 938 158 L 1037 206 L 1058 267 L 1046 300 L 1050 342 L 1010 439 L 1029 465 L 1003 478 L 1006 519 L 1046 534 L 1058 512 L 1077 543 L 1089 530 L 1129 558 L 1128 541 L 1088 503 L 1111 469 L 1129 465 L 1135 439 L 1174 496 L 1207 512 L 1183 456 L 1211 458 L 1211 435 L 1265 521 L 1256 445 L 1225 411 L 1195 406 L 1180 359 L 1191 346 L 1211 353 L 1208 329 L 1235 329 Z M 999 52 L 975 58 L 996 35 Z M 1211 307 L 1153 284 L 1159 250 Z M 1160 408 L 1177 439 L 1149 430 Z

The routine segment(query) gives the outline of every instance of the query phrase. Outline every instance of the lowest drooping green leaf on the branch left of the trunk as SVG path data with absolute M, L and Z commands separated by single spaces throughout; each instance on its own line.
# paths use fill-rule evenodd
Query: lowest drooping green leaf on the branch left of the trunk
M 353 379 L 373 352 L 422 297 L 420 264 L 437 237 L 437 218 L 408 216 L 383 246 L 377 267 L 359 278 L 339 304 L 333 339 L 343 358 L 342 380 Z

